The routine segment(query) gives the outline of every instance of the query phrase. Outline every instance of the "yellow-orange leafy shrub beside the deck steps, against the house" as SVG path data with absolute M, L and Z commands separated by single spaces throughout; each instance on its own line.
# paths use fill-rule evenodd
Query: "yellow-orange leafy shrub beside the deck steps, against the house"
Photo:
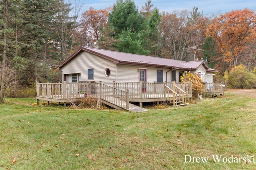
M 192 74 L 191 72 L 185 72 L 183 76 L 180 77 L 181 82 L 192 82 L 192 95 L 194 97 L 197 96 L 197 94 L 202 94 L 204 92 L 204 84 L 203 80 L 200 76 L 196 74 Z

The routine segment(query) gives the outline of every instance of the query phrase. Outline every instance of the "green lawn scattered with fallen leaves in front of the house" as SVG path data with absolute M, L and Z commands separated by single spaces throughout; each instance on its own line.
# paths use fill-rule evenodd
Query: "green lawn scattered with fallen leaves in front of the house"
M 250 95 L 226 92 L 198 104 L 142 113 L 33 102 L 8 98 L 0 104 L 0 170 L 256 167 L 212 161 L 212 154 L 256 155 L 256 98 Z M 184 163 L 185 154 L 209 160 Z

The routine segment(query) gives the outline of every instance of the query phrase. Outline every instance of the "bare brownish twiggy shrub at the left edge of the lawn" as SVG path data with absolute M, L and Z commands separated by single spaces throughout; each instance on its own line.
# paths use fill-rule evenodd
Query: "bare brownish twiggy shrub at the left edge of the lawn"
M 10 88 L 14 84 L 15 71 L 10 63 L 0 63 L 0 103 L 4 103 L 5 98 L 10 93 Z

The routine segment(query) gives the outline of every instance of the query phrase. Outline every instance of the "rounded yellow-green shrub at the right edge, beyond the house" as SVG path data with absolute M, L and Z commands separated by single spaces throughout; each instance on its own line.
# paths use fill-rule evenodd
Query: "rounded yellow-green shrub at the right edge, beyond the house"
M 256 75 L 242 64 L 226 71 L 224 78 L 229 88 L 256 88 Z

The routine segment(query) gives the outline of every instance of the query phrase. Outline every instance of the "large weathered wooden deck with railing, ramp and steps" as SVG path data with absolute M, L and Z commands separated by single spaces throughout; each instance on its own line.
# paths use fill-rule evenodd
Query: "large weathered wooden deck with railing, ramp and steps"
M 143 102 L 169 101 L 178 106 L 192 97 L 191 83 L 116 83 L 108 86 L 99 83 L 37 83 L 37 100 L 66 103 L 98 98 L 100 102 L 116 109 L 132 112 L 146 111 Z M 172 87 L 171 87 L 172 86 Z M 129 102 L 139 102 L 140 107 Z M 129 103 L 128 105 L 126 103 Z

